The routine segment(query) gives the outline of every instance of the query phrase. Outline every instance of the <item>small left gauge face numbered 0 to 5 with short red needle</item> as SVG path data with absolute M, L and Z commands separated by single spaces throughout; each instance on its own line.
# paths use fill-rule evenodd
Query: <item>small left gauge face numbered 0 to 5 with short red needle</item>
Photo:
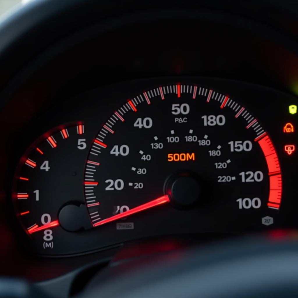
M 44 252 L 67 246 L 67 232 L 60 227 L 58 213 L 69 202 L 83 204 L 86 147 L 82 123 L 63 125 L 41 136 L 20 161 L 13 203 L 24 230 Z

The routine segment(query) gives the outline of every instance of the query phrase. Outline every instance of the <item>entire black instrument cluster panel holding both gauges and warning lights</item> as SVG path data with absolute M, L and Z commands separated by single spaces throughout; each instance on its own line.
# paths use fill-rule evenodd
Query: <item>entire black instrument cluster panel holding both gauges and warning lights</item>
M 31 251 L 71 255 L 150 236 L 286 226 L 297 101 L 206 82 L 213 87 L 158 80 L 106 87 L 77 97 L 67 119 L 58 115 L 72 124 L 54 123 L 14 176 Z M 262 100 L 250 102 L 249 92 Z M 270 115 L 283 108 L 275 121 Z

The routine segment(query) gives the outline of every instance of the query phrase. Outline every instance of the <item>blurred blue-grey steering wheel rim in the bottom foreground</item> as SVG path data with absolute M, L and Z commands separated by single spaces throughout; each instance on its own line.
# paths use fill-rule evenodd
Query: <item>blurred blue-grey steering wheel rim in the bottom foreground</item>
M 297 297 L 296 264 L 297 242 L 249 237 L 113 263 L 81 297 Z

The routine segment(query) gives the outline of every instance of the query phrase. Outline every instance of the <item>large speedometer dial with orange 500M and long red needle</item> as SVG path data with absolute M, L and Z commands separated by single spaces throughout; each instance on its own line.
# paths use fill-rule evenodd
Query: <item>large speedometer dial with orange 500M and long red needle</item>
M 125 100 L 102 123 L 84 190 L 95 227 L 149 205 L 196 212 L 209 204 L 227 215 L 278 210 L 282 174 L 268 133 L 242 104 L 178 83 Z

